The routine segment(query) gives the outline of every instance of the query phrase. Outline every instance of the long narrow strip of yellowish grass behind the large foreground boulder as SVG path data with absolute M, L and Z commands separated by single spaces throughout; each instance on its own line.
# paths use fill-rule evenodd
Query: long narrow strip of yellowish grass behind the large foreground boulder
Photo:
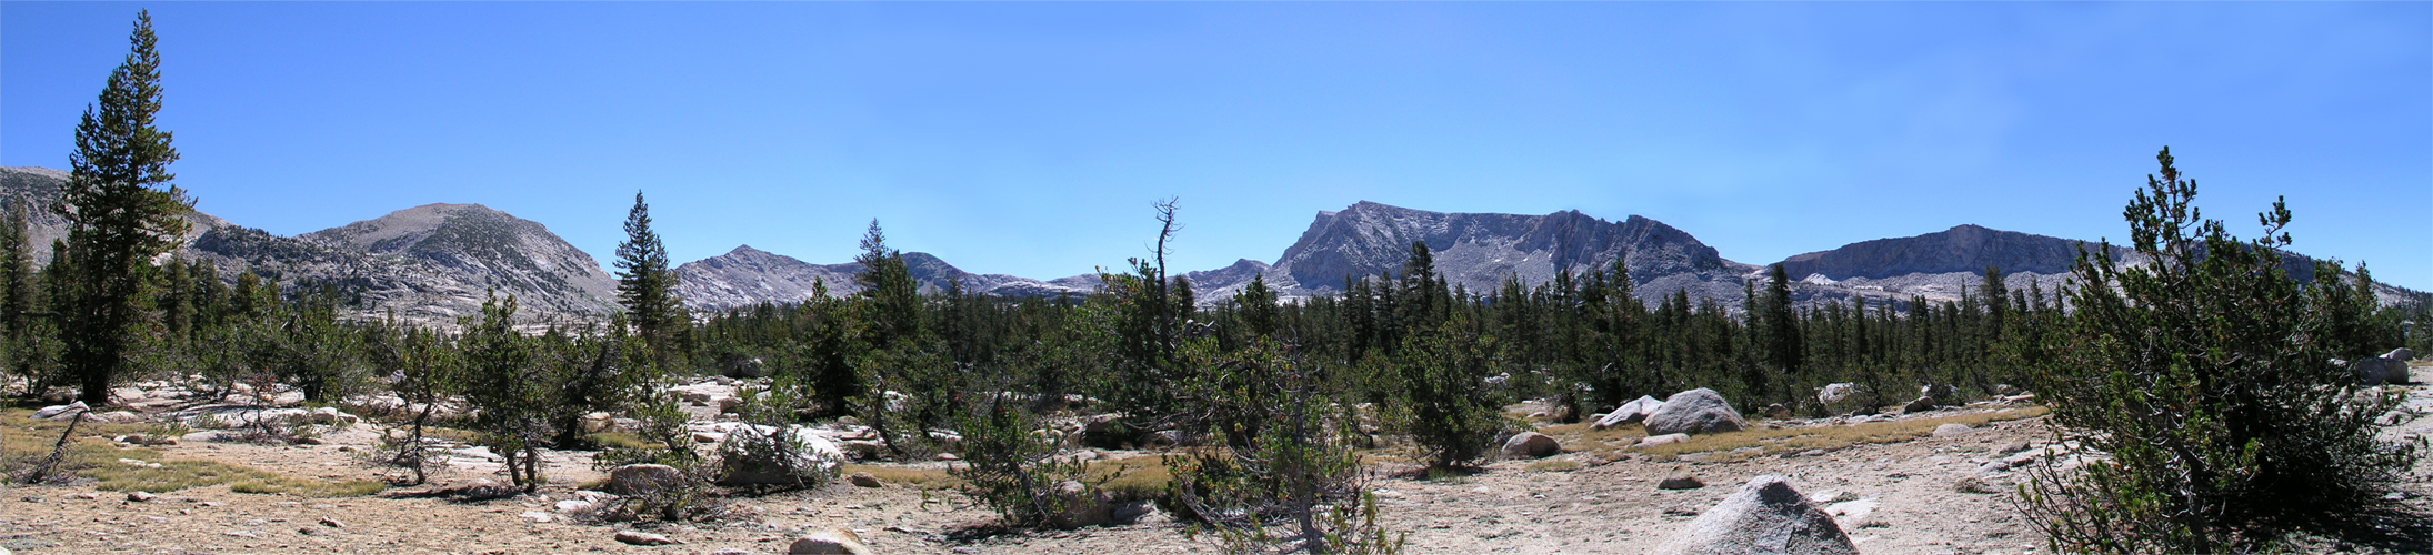
M 1944 424 L 1968 424 L 1971 428 L 1995 424 L 2044 416 L 2044 407 L 2027 409 L 2002 409 L 2002 411 L 1978 411 L 1956 414 L 1939 419 L 1912 419 L 1912 421 L 1871 421 L 1852 426 L 1815 426 L 1815 428 L 1747 428 L 1715 436 L 1691 436 L 1684 443 L 1647 448 L 1654 458 L 1679 458 L 1686 453 L 1718 453 L 1708 458 L 1710 462 L 1742 460 L 1757 455 L 1800 453 L 1813 448 L 1847 448 L 1852 443 L 1903 443 L 1922 436 L 1934 436 L 1934 426 Z M 1730 453 L 1740 448 L 1759 448 L 1759 453 Z

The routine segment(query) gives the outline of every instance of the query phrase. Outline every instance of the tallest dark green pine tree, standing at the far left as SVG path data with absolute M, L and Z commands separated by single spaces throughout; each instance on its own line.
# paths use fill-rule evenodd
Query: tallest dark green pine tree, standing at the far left
M 175 248 L 195 209 L 185 190 L 170 185 L 178 161 L 170 131 L 153 127 L 161 112 L 161 54 L 153 49 L 151 12 L 136 15 L 131 51 L 100 105 L 85 107 L 75 124 L 71 178 L 51 207 L 68 219 L 68 248 L 75 278 L 61 299 L 61 338 L 66 365 L 83 387 L 83 399 L 107 402 L 109 382 L 127 372 L 136 331 L 151 319 L 144 273 L 151 258 Z

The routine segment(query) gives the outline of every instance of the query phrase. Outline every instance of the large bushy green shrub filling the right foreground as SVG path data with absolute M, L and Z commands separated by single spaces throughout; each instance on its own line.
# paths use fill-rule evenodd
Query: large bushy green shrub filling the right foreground
M 2282 202 L 2265 239 L 2236 241 L 2190 207 L 2168 148 L 2158 161 L 2124 212 L 2146 263 L 2080 253 L 2061 360 L 2034 380 L 2078 445 L 2063 455 L 2088 458 L 2022 484 L 2032 521 L 2056 550 L 2226 553 L 2387 506 L 2421 445 L 2377 441 L 2399 399 L 2328 363 L 2367 348 L 2343 321 L 2372 295 L 2331 263 L 2292 282 Z

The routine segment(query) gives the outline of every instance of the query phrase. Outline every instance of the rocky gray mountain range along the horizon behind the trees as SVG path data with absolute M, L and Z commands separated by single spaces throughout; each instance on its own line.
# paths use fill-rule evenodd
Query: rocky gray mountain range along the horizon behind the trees
M 36 260 L 49 260 L 51 239 L 66 236 L 66 219 L 41 209 L 58 200 L 68 173 L 49 168 L 0 168 L 0 200 L 29 202 Z M 397 312 L 409 321 L 455 321 L 477 314 L 489 292 L 513 295 L 535 321 L 584 321 L 616 304 L 616 278 L 547 226 L 482 204 L 423 204 L 380 219 L 299 236 L 272 236 L 195 212 L 178 256 L 209 260 L 221 278 L 238 273 L 277 278 L 285 287 L 331 285 L 360 312 Z M 1606 270 L 1625 260 L 1635 295 L 1647 302 L 1689 292 L 1740 307 L 1744 285 L 1761 282 L 1766 265 L 1725 260 L 1696 236 L 1647 217 L 1606 222 L 1581 212 L 1555 214 L 1448 214 L 1358 202 L 1319 212 L 1275 263 L 1236 260 L 1226 268 L 1182 273 L 1202 304 L 1234 297 L 1253 278 L 1277 295 L 1338 295 L 1348 278 L 1394 275 L 1411 243 L 1433 251 L 1435 268 L 1457 287 L 1494 292 L 1506 278 L 1540 285 L 1555 273 Z M 1800 302 L 1820 299 L 1959 299 L 1983 270 L 2000 268 L 2012 290 L 2041 285 L 2058 292 L 2080 243 L 2056 236 L 1951 226 L 1937 234 L 1859 241 L 1832 251 L 1781 260 Z M 1097 275 L 1032 280 L 976 275 L 929 253 L 903 253 L 925 292 L 961 282 L 966 292 L 1000 297 L 1090 295 Z M 2117 258 L 2131 258 L 2114 248 Z M 2136 263 L 2136 260 L 2131 260 Z M 2311 275 L 2309 258 L 2289 256 L 2292 275 Z M 800 302 L 825 285 L 827 295 L 859 290 L 859 263 L 805 263 L 791 256 L 737 246 L 723 256 L 676 265 L 676 292 L 696 312 L 740 309 L 762 302 Z M 2421 292 L 2377 287 L 2384 304 L 2418 302 Z

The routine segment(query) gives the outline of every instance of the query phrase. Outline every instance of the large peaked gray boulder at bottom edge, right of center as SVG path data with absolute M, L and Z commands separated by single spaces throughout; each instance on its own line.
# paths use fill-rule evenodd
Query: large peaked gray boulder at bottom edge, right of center
M 1783 477 L 1754 477 L 1698 514 L 1662 555 L 1859 555 L 1842 526 Z

